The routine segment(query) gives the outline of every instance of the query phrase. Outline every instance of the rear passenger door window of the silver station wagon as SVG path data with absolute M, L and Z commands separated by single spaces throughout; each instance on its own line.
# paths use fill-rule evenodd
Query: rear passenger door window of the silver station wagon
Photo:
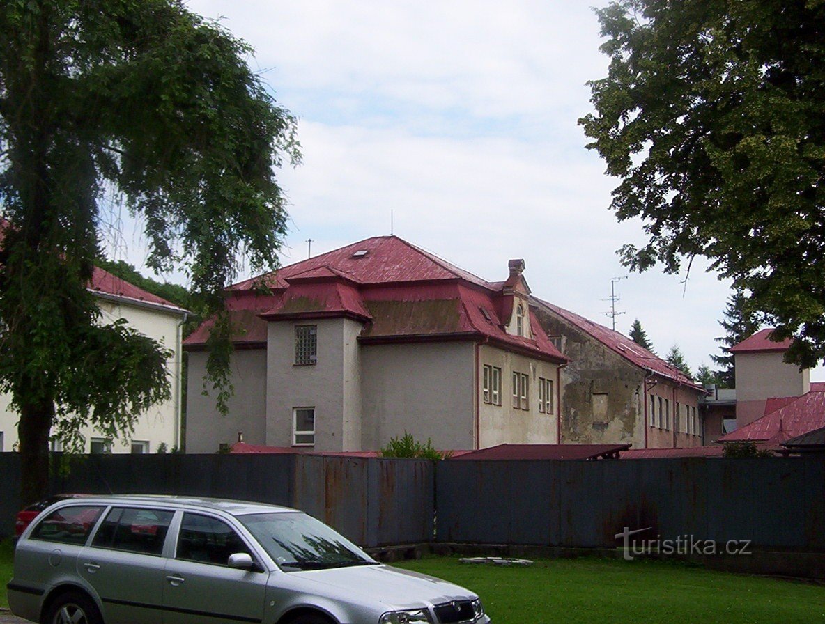
M 159 556 L 173 515 L 164 509 L 114 507 L 97 529 L 92 547 Z

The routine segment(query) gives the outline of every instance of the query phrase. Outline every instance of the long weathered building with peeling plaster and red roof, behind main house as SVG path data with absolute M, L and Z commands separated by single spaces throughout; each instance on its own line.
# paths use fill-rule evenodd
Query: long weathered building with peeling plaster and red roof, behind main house
M 570 360 L 561 373 L 561 443 L 702 445 L 699 384 L 618 331 L 537 298 L 532 303 Z

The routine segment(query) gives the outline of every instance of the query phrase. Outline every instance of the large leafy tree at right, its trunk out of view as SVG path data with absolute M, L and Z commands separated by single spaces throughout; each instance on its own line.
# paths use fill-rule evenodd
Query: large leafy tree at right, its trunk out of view
M 787 358 L 825 356 L 825 2 L 619 0 L 599 10 L 608 75 L 580 120 L 620 178 L 612 209 L 676 272 L 706 256 Z

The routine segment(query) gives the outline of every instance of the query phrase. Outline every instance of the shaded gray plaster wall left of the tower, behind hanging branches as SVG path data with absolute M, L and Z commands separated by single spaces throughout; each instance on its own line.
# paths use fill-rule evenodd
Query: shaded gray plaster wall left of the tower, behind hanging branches
M 215 408 L 215 395 L 203 396 L 205 351 L 189 352 L 186 375 L 186 452 L 216 453 L 221 443 L 266 443 L 266 349 L 238 349 L 232 354 L 234 395 L 229 413 Z

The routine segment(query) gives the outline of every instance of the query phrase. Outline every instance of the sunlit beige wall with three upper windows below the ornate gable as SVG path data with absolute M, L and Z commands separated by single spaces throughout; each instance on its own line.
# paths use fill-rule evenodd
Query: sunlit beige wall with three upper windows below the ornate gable
M 479 381 L 476 398 L 479 401 L 479 448 L 504 443 L 558 443 L 558 366 L 489 345 L 481 345 L 479 346 L 479 380 L 483 378 L 484 364 L 502 369 L 502 405 L 495 406 L 483 402 L 482 382 Z M 512 406 L 512 373 L 514 371 L 526 373 L 530 377 L 529 410 L 521 410 Z M 552 414 L 543 414 L 539 411 L 539 378 L 553 380 L 555 396 Z

